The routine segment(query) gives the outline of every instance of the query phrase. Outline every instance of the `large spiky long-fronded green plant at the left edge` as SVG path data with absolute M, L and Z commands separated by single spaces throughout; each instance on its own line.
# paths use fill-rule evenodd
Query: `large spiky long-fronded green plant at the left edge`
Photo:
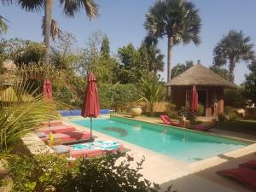
M 0 150 L 12 148 L 42 121 L 59 117 L 53 102 L 45 101 L 44 96 L 35 94 L 37 90 L 30 89 L 31 85 L 22 79 L 8 88 L 0 85 Z

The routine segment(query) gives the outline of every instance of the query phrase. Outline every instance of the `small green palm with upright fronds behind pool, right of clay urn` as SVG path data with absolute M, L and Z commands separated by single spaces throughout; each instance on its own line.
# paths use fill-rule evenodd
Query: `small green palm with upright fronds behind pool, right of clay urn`
M 154 116 L 154 103 L 160 102 L 165 96 L 162 82 L 155 76 L 142 79 L 142 94 L 139 101 L 147 102 L 150 116 Z

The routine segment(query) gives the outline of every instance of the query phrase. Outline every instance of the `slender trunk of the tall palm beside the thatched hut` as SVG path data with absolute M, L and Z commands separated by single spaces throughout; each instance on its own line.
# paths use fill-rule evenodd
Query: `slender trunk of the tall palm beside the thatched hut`
M 172 79 L 172 47 L 173 47 L 173 38 L 168 37 L 168 53 L 167 53 L 167 82 L 170 82 Z M 171 87 L 167 87 L 167 100 L 171 99 Z

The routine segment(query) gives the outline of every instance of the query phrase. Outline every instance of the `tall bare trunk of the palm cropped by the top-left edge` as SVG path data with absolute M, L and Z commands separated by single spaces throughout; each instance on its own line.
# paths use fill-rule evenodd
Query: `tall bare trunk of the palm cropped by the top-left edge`
M 51 25 L 51 14 L 52 6 L 54 0 L 44 0 L 44 22 L 45 22 L 45 34 L 44 34 L 44 44 L 45 44 L 45 54 L 44 54 L 44 64 L 49 65 L 49 41 L 50 41 L 50 25 Z

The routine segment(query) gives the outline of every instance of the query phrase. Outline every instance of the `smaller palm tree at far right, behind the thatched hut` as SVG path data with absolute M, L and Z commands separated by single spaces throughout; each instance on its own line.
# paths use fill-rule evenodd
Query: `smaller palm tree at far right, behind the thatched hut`
M 250 37 L 244 37 L 242 31 L 230 30 L 213 49 L 213 64 L 226 65 L 229 61 L 230 81 L 234 82 L 234 69 L 239 61 L 254 59 L 253 44 Z

